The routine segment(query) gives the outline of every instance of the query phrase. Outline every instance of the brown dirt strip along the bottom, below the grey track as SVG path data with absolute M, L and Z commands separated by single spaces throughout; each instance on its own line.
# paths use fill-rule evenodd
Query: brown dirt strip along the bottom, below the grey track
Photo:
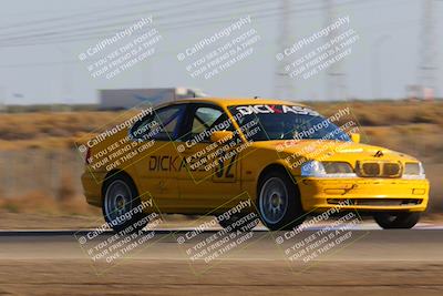
M 132 261 L 96 276 L 79 261 L 0 261 L 0 295 L 443 295 L 443 263 L 224 262 L 195 276 L 186 262 Z

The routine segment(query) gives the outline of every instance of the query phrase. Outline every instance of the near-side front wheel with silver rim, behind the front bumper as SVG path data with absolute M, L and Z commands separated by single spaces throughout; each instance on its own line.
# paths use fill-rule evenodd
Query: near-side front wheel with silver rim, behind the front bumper
M 292 229 L 305 221 L 300 193 L 286 172 L 272 171 L 259 181 L 258 211 L 270 231 Z

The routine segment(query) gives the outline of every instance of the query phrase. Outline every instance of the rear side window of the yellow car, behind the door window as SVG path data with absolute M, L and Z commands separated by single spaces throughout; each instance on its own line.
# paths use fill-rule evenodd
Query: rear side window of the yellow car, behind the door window
M 184 110 L 184 104 L 158 109 L 136 122 L 131 129 L 131 136 L 140 141 L 176 140 Z

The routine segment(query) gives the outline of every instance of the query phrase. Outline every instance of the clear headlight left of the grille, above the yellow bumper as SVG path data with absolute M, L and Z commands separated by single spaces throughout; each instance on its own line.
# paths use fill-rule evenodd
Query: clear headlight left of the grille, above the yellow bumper
M 347 162 L 310 161 L 301 166 L 301 176 L 356 177 L 357 175 Z

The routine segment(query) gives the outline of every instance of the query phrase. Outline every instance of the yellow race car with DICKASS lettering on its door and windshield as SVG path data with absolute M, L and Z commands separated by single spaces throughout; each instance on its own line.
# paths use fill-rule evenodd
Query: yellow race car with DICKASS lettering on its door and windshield
M 144 227 L 152 212 L 229 213 L 224 227 L 255 213 L 271 231 L 292 229 L 336 208 L 413 227 L 429 198 L 422 164 L 361 144 L 358 132 L 349 109 L 324 118 L 289 101 L 169 102 L 82 143 L 84 195 L 115 231 Z

